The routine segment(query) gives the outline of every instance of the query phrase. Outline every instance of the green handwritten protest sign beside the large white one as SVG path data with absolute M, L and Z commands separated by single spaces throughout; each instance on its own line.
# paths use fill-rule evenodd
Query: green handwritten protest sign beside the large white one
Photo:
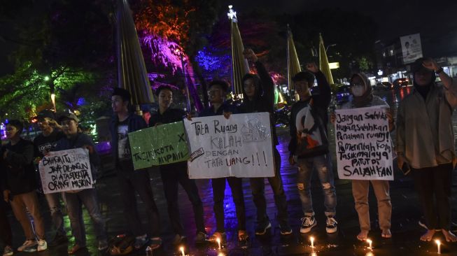
M 135 170 L 189 158 L 182 121 L 130 132 L 129 143 Z

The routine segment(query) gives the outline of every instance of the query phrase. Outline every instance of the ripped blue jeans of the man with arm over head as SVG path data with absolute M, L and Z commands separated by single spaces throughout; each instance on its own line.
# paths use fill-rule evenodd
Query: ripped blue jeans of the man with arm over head
M 330 155 L 301 158 L 295 157 L 298 166 L 297 188 L 302 201 L 302 210 L 305 216 L 314 215 L 313 200 L 311 199 L 311 176 L 316 169 L 324 194 L 326 216 L 335 216 L 337 208 L 337 194 L 333 182 L 332 163 Z

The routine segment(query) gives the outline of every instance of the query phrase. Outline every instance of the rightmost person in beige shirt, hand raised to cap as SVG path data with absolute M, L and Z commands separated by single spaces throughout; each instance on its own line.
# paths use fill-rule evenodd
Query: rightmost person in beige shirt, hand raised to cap
M 452 171 L 457 163 L 452 113 L 457 106 L 457 83 L 433 59 L 412 64 L 414 91 L 397 113 L 397 161 L 411 169 L 428 230 L 422 241 L 432 241 L 441 229 L 446 241 L 456 242 L 451 228 Z M 437 74 L 442 85 L 435 83 Z

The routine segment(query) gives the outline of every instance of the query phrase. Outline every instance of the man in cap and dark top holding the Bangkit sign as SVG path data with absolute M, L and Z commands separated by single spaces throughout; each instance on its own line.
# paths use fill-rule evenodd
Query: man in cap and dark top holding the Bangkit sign
M 62 126 L 62 131 L 64 132 L 65 137 L 57 141 L 57 145 L 51 151 L 86 148 L 89 151 L 90 169 L 92 171 L 92 179 L 95 183 L 95 173 L 97 173 L 97 167 L 100 164 L 100 159 L 97 151 L 95 150 L 92 138 L 86 134 L 78 133 L 79 119 L 73 113 L 64 113 L 60 116 L 58 121 Z M 69 215 L 71 232 L 75 237 L 75 244 L 69 250 L 69 253 L 74 254 L 86 246 L 82 204 L 84 204 L 90 218 L 92 219 L 94 232 L 97 235 L 97 240 L 99 241 L 99 250 L 106 250 L 106 248 L 108 248 L 105 229 L 106 221 L 100 213 L 97 190 L 93 187 L 83 190 L 66 191 L 63 194 L 66 202 L 66 211 Z

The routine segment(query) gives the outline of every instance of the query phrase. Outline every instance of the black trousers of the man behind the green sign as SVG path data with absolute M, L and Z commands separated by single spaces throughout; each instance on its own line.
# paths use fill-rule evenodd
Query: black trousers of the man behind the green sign
M 204 229 L 202 200 L 198 194 L 195 180 L 190 180 L 188 176 L 187 162 L 160 166 L 160 176 L 162 176 L 162 182 L 164 184 L 165 198 L 167 199 L 168 204 L 168 215 L 174 233 L 181 236 L 184 235 L 184 228 L 181 223 L 178 206 L 178 184 L 181 184 L 188 194 L 190 203 L 192 203 L 197 232 L 204 232 L 206 234 Z

